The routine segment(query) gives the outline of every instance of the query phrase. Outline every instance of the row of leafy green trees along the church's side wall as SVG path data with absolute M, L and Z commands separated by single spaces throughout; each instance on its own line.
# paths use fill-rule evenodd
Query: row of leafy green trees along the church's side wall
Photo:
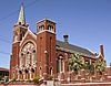
M 94 72 L 101 74 L 105 72 L 107 64 L 103 58 L 98 58 L 94 63 L 91 63 L 90 61 L 82 63 L 82 60 L 79 54 L 72 54 L 71 58 L 69 60 L 69 67 L 71 71 L 75 71 L 77 73 L 79 69 L 84 68 L 90 74 Z

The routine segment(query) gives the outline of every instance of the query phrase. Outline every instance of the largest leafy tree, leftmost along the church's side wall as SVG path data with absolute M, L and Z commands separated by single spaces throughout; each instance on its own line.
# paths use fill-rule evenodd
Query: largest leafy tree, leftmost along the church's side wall
M 82 62 L 79 54 L 72 54 L 71 58 L 69 60 L 69 66 L 71 71 L 75 72 L 82 68 Z

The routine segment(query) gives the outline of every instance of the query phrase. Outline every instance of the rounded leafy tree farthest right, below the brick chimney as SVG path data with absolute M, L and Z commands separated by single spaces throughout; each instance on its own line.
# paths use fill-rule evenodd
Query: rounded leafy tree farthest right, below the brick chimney
M 95 71 L 99 72 L 99 73 L 102 73 L 105 71 L 105 61 L 101 60 L 101 58 L 98 58 L 97 62 L 95 62 Z

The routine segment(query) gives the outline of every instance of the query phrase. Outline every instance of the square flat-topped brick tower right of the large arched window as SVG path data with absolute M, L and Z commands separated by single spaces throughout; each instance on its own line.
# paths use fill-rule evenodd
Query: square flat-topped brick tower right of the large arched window
M 37 23 L 37 74 L 53 75 L 57 73 L 56 23 L 44 19 Z

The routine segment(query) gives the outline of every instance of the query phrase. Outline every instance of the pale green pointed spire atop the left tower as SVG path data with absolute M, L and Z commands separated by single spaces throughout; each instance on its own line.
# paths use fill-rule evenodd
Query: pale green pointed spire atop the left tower
M 23 4 L 21 6 L 20 13 L 19 13 L 18 24 L 19 24 L 19 23 L 26 24 L 26 18 L 24 18 L 24 8 L 23 8 Z

